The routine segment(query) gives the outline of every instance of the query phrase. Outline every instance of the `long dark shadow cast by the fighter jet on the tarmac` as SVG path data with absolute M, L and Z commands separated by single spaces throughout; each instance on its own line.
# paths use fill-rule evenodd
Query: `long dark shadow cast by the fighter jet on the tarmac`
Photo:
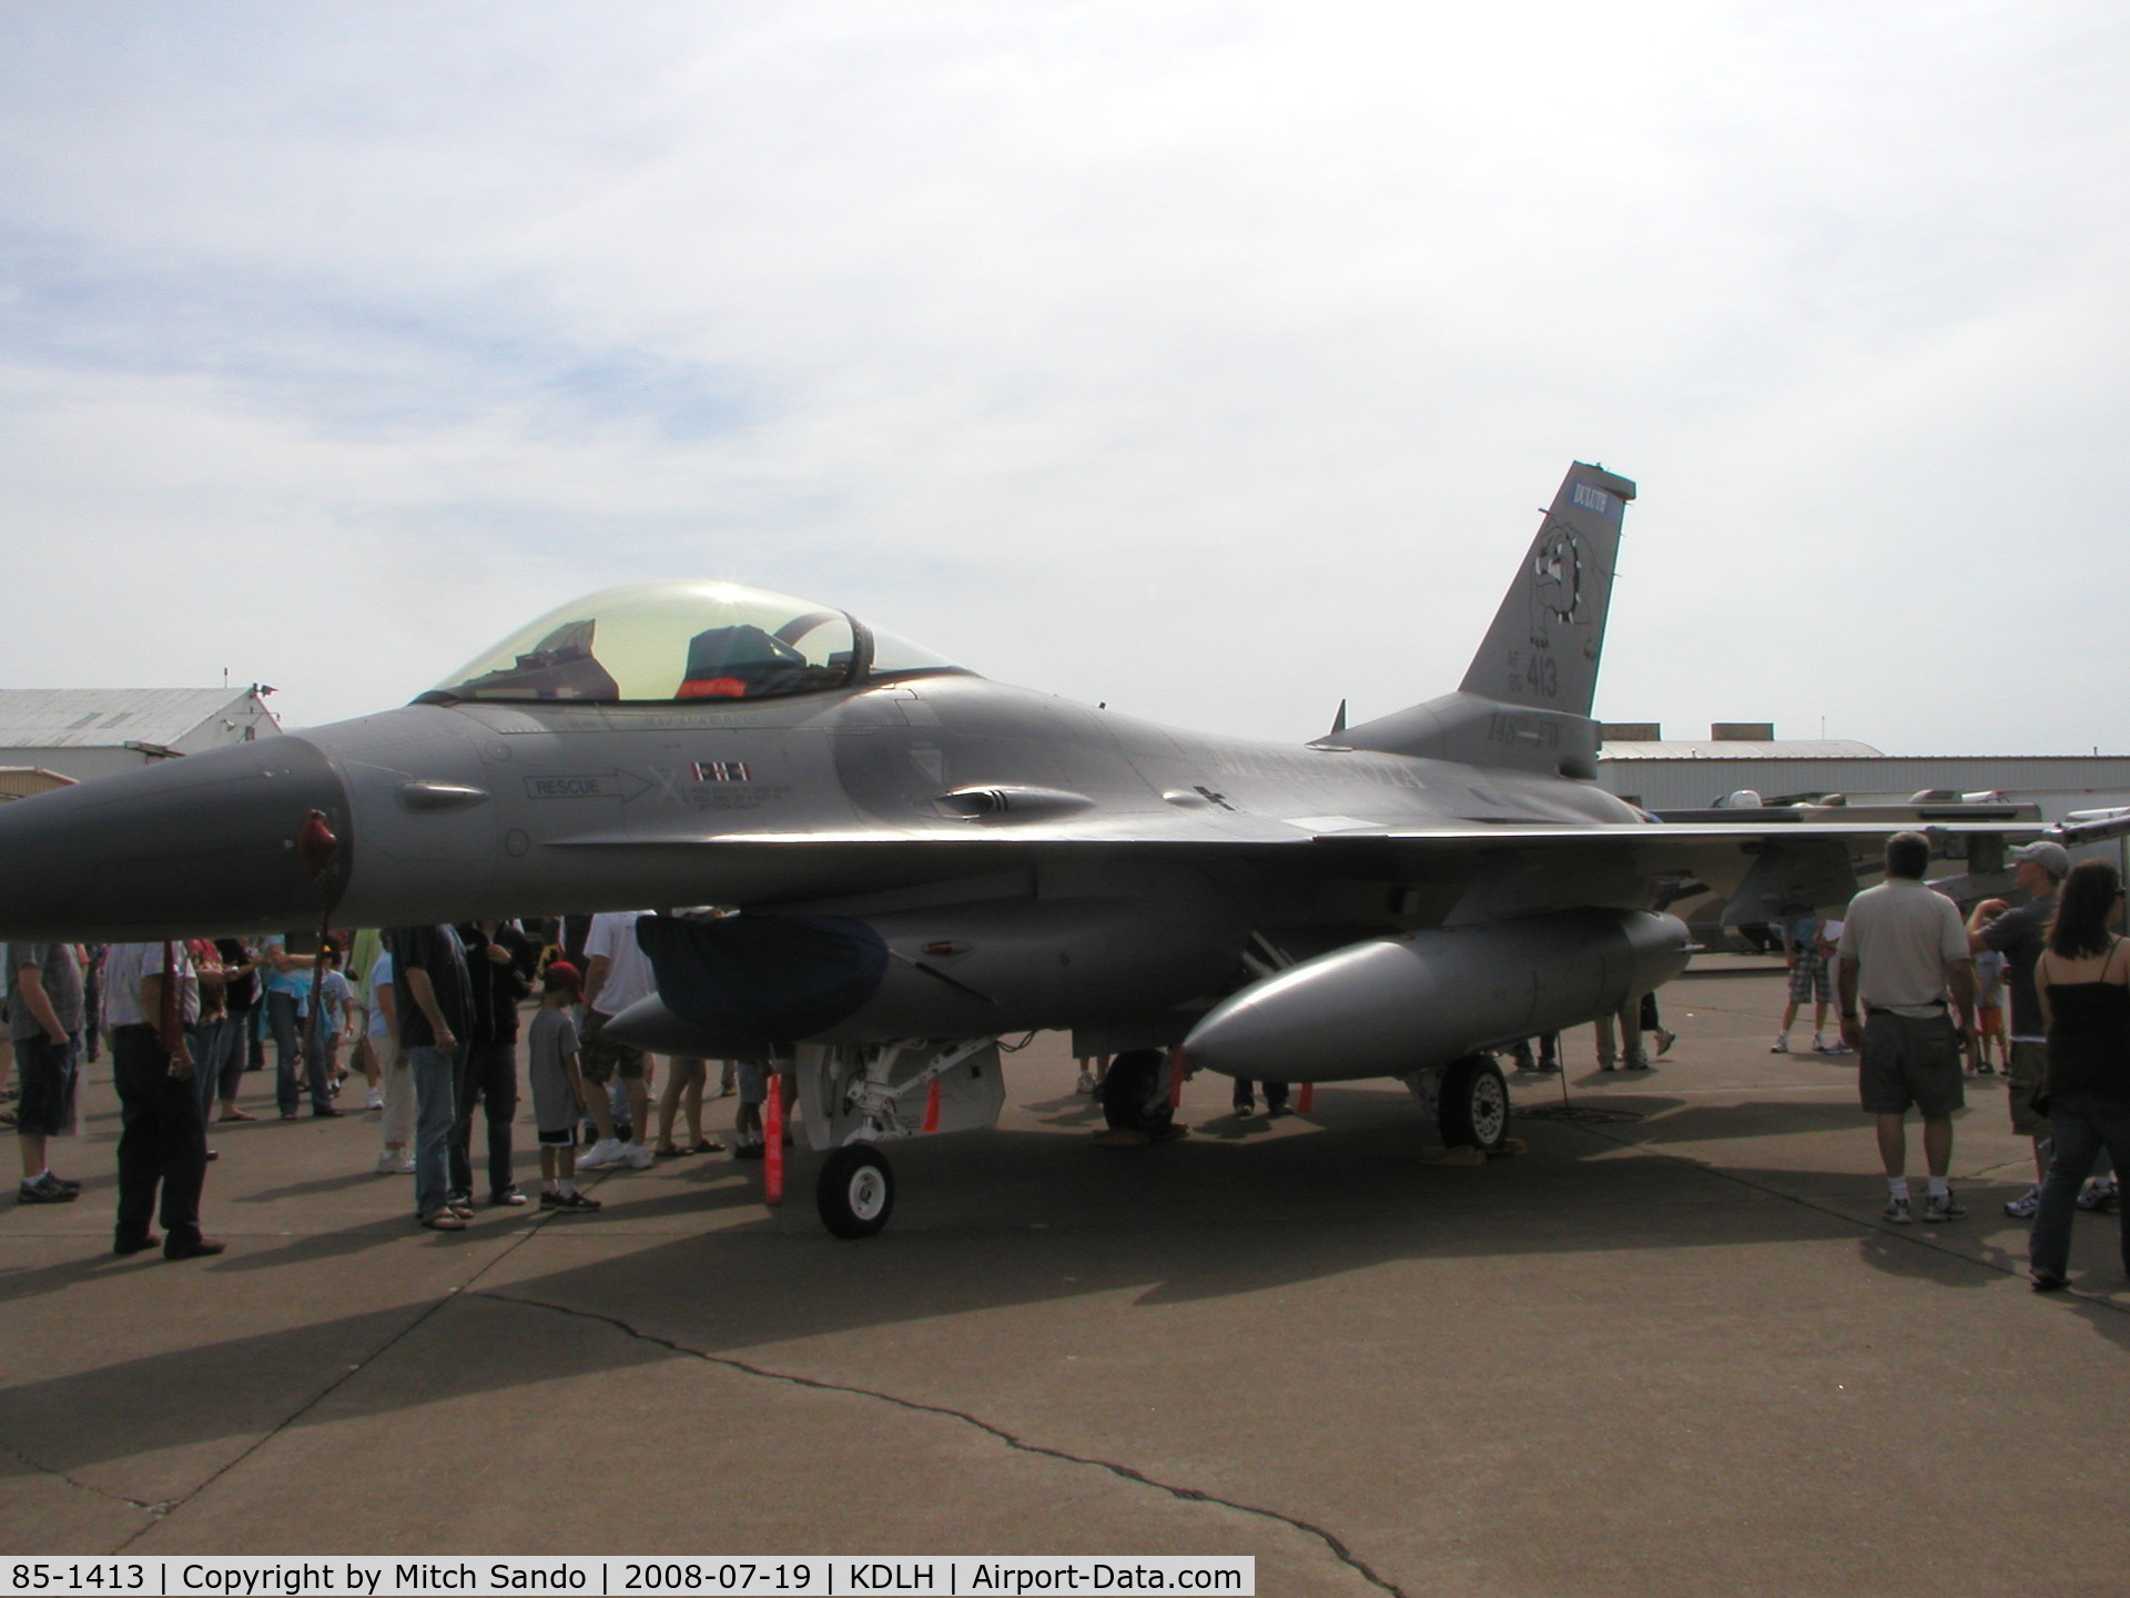
M 1321 1093 L 1318 1106 L 1327 1102 L 1338 1114 L 1340 1095 Z M 1129 1315 L 1410 1259 L 1849 1240 L 1874 1270 L 1962 1289 L 2002 1281 L 2000 1272 L 2019 1263 L 2002 1249 L 1962 1255 L 1917 1246 L 1930 1238 L 1879 1227 L 1864 1208 L 1868 1197 L 1859 1197 L 1855 1214 L 1798 1202 L 1783 1183 L 1793 1185 L 1800 1172 L 1727 1170 L 1717 1178 L 1689 1161 L 1642 1155 L 1563 1125 L 1519 1123 L 1531 1146 L 1525 1157 L 1436 1165 L 1427 1163 L 1410 1119 L 1382 1116 L 1380 1106 L 1376 1095 L 1372 1125 L 1338 1134 L 1299 1125 L 1252 1146 L 1193 1136 L 1118 1151 L 1044 1131 L 905 1144 L 892 1151 L 901 1178 L 897 1221 L 886 1236 L 863 1244 L 818 1229 L 814 1157 L 797 1151 L 790 1197 L 777 1214 L 756 1210 L 756 1221 L 682 1238 L 618 1232 L 596 1259 L 584 1261 L 573 1249 L 550 1255 L 571 1261 L 556 1270 L 498 1270 L 437 1315 L 424 1302 L 17 1383 L 0 1389 L 0 1440 L 43 1468 L 75 1472 L 249 1436 L 285 1423 L 388 1344 L 392 1379 L 345 1381 L 330 1406 L 298 1423 L 324 1423 L 328 1408 L 330 1419 L 392 1413 L 673 1357 L 630 1336 L 556 1336 L 554 1317 L 498 1312 L 494 1300 L 560 1306 L 707 1355 L 775 1364 L 758 1351 L 1095 1295 L 1123 1298 Z M 641 1197 L 628 1193 L 626 1176 L 613 1178 L 603 1185 L 609 1197 L 603 1214 L 547 1225 L 567 1227 L 554 1236 L 596 1238 L 601 1221 L 758 1206 L 758 1178 L 731 1180 L 733 1174 L 728 1161 L 709 1159 L 701 1176 L 690 1172 L 694 1180 L 684 1191 Z M 488 1221 L 475 1232 L 486 1242 L 503 1236 Z M 405 1223 L 366 1223 L 232 1255 L 207 1274 L 266 1272 L 386 1242 L 407 1244 Z M 424 1238 L 420 1246 L 464 1242 Z M 2100 1255 L 2113 1261 L 2113 1221 L 2079 1227 L 2077 1257 L 2094 1272 L 2096 1291 L 2113 1285 L 2113 1266 L 2092 1261 Z M 539 1240 L 513 1261 L 543 1263 Z M 15 1272 L 0 1278 L 0 1295 L 58 1291 L 98 1268 L 106 1261 Z M 2111 1344 L 2130 1351 L 2130 1315 L 2090 1300 L 2077 1302 L 2077 1310 Z M 422 1317 L 430 1319 L 407 1336 Z M 243 1372 L 243 1381 L 202 1383 L 202 1370 Z M 143 1404 L 143 1393 L 155 1402 Z

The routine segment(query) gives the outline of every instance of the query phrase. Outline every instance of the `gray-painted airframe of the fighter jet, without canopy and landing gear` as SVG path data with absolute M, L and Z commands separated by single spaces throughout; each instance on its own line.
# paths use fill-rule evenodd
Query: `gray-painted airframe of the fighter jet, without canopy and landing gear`
M 1736 893 L 1772 833 L 1838 897 L 1891 831 L 1670 827 L 1589 782 L 1632 496 L 1572 467 L 1461 688 L 1312 746 L 958 671 L 735 703 L 415 703 L 6 805 L 0 935 L 720 903 L 884 942 L 878 986 L 816 1042 L 1069 1027 L 1118 1048 L 1203 1023 L 1195 1053 L 1233 1065 L 1246 1014 L 1295 1080 L 1384 1072 L 1397 1038 L 1440 1063 L 1668 976 L 1685 931 L 1664 895 Z M 1255 972 L 1257 940 L 1289 969 Z M 1470 959 L 1485 982 L 1419 969 Z M 1595 976 L 1553 980 L 1563 961 Z M 1316 1025 L 1350 1006 L 1374 1042 Z M 692 1053 L 760 1042 L 633 1025 Z

